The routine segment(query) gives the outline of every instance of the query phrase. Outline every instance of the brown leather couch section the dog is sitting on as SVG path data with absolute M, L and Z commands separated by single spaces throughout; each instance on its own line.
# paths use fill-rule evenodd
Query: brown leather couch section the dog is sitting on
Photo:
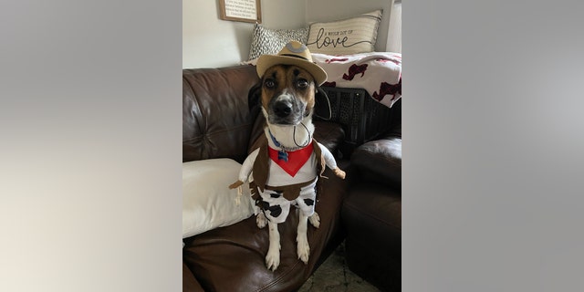
M 183 162 L 232 158 L 244 162 L 257 139 L 262 139 L 263 116 L 248 109 L 248 91 L 258 82 L 255 68 L 183 69 Z M 339 153 L 344 131 L 334 122 L 315 122 L 315 139 Z M 348 161 L 338 159 L 342 169 Z M 310 257 L 297 259 L 297 213 L 279 224 L 281 262 L 266 268 L 268 231 L 255 225 L 255 216 L 183 239 L 183 291 L 294 291 L 345 237 L 340 209 L 347 180 L 329 169 L 318 181 L 320 227 L 308 227 Z M 225 186 L 227 187 L 227 186 Z

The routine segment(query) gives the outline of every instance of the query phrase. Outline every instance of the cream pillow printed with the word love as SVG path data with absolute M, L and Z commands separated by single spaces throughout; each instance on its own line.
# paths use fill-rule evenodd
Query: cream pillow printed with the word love
M 312 23 L 307 47 L 311 53 L 349 55 L 372 52 L 383 10 L 334 22 Z

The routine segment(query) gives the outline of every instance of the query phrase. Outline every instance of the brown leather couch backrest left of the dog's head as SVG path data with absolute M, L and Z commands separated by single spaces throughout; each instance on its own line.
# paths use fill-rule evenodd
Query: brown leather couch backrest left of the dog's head
M 243 162 L 255 117 L 247 93 L 259 81 L 253 66 L 183 69 L 183 162 Z

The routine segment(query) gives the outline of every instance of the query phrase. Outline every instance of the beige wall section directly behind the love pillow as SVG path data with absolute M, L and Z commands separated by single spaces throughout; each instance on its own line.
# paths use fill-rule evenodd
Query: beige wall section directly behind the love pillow
M 266 1 L 266 0 L 264 0 Z M 307 21 L 334 21 L 351 16 L 383 9 L 380 29 L 377 33 L 375 50 L 384 52 L 387 44 L 388 27 L 390 23 L 391 5 L 393 0 L 305 0 L 307 3 Z

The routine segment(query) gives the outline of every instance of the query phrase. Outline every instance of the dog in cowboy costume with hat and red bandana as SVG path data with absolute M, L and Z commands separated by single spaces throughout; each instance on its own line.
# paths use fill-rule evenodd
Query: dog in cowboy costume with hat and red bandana
M 280 235 L 277 224 L 286 221 L 290 205 L 299 209 L 297 256 L 308 263 L 308 222 L 318 228 L 315 212 L 316 184 L 328 166 L 345 178 L 332 153 L 313 139 L 312 117 L 319 86 L 326 72 L 312 62 L 308 47 L 291 41 L 275 55 L 257 60 L 260 83 L 259 105 L 266 118 L 265 142 L 242 164 L 234 189 L 250 182 L 256 206 L 256 224 L 268 226 L 269 246 L 266 267 L 275 271 L 280 264 Z

